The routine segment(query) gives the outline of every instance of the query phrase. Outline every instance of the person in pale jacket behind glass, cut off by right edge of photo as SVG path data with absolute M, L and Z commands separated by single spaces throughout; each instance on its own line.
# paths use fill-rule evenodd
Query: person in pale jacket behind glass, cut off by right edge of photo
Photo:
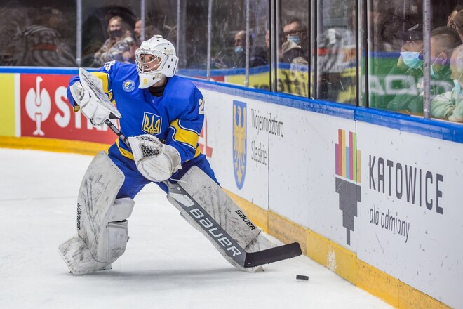
M 450 58 L 451 78 L 454 87 L 451 91 L 439 94 L 431 100 L 432 117 L 463 122 L 463 45 L 452 52 Z

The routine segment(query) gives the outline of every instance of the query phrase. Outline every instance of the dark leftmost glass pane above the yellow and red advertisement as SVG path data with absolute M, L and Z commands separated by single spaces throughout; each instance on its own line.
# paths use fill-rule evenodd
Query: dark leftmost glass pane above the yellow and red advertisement
M 1 4 L 0 65 L 75 67 L 75 10 L 58 1 Z

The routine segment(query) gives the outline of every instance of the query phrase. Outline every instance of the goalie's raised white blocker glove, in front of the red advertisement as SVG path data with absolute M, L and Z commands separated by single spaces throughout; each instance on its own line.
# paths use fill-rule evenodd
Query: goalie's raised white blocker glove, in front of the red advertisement
M 79 81 L 76 81 L 70 87 L 70 90 L 72 98 L 74 98 L 76 105 L 80 107 L 83 116 L 90 120 L 92 126 L 102 126 L 105 120 L 108 119 L 111 111 L 102 105 L 97 98 L 93 98 L 90 95 L 90 91 L 83 89 Z

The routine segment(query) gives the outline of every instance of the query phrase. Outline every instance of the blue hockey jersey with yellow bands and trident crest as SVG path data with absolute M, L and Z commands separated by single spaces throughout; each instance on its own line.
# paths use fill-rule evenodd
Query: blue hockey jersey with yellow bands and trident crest
M 121 113 L 123 135 L 154 135 L 178 150 L 182 164 L 201 154 L 198 138 L 204 121 L 204 100 L 191 81 L 170 77 L 163 95 L 156 97 L 148 89 L 138 88 L 138 73 L 133 64 L 112 61 L 92 74 L 103 81 L 103 91 Z M 79 76 L 73 77 L 69 86 L 76 81 Z M 76 107 L 69 86 L 67 97 Z M 133 159 L 126 145 L 119 140 L 116 144 L 124 157 Z

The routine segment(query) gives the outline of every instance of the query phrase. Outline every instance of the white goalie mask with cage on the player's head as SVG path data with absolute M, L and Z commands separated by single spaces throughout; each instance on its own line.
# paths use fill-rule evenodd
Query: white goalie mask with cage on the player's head
M 164 77 L 173 77 L 177 71 L 178 57 L 170 41 L 161 35 L 155 35 L 143 41 L 140 48 L 135 51 L 140 85 L 144 89 L 153 86 Z

